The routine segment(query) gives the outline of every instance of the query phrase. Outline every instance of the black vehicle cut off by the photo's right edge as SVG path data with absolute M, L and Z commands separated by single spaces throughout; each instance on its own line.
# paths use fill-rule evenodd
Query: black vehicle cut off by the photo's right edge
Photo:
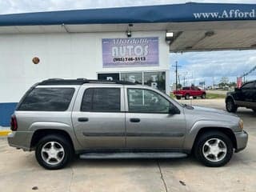
M 226 110 L 235 113 L 243 106 L 256 112 L 256 81 L 246 82 L 240 89 L 226 94 Z

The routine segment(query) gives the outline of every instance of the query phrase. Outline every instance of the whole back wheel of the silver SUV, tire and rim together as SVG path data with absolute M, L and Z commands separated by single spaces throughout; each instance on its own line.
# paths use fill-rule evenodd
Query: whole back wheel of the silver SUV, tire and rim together
M 35 156 L 38 163 L 48 170 L 58 170 L 66 166 L 73 157 L 70 142 L 58 134 L 42 138 L 36 147 Z

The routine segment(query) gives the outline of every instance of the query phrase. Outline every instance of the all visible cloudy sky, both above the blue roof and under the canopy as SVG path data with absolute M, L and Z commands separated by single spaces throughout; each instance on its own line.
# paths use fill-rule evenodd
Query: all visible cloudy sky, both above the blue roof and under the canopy
M 0 0 L 0 14 L 16 14 L 50 10 L 75 10 L 121 6 L 148 6 L 190 2 L 188 0 Z M 194 0 L 192 2 L 256 3 L 256 0 Z M 210 86 L 222 77 L 236 78 L 256 66 L 256 50 L 210 51 L 170 54 L 170 81 L 175 82 L 174 65 L 178 62 L 183 84 L 205 81 Z M 247 76 L 255 79 L 256 71 Z

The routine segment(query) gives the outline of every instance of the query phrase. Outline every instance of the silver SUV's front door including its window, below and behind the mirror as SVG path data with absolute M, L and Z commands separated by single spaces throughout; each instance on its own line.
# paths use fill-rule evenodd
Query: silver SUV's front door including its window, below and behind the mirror
M 169 114 L 176 107 L 150 89 L 126 89 L 126 147 L 130 149 L 178 149 L 186 132 L 181 114 Z

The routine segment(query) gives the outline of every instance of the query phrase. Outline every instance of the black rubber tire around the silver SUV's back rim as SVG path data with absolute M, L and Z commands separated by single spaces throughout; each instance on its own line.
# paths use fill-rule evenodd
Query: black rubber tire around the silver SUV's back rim
M 62 160 L 58 162 L 58 164 L 51 165 L 43 159 L 43 156 L 45 155 L 42 154 L 42 147 L 46 146 L 49 142 L 58 143 L 60 146 L 62 146 L 62 149 L 64 150 L 64 152 L 62 152 Z M 66 139 L 64 136 L 58 134 L 49 134 L 38 142 L 35 150 L 35 156 L 40 166 L 46 168 L 47 170 L 58 170 L 65 167 L 70 162 L 70 160 L 74 156 L 74 150 L 69 140 Z

